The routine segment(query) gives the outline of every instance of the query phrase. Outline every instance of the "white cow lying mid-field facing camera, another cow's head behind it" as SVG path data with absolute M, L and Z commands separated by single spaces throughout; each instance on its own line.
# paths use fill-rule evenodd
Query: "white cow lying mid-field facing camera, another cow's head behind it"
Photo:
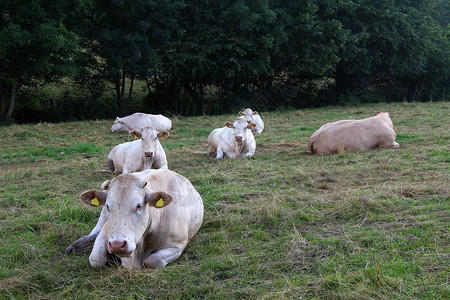
M 237 117 L 226 127 L 214 129 L 208 136 L 209 154 L 217 159 L 250 157 L 255 153 L 256 141 L 251 130 L 256 124 Z

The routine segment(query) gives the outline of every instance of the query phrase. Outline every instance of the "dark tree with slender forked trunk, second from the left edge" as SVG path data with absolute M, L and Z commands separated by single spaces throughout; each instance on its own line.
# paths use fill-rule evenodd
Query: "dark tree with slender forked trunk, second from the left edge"
M 176 28 L 177 1 L 99 0 L 85 1 L 81 24 L 76 32 L 85 41 L 85 54 L 91 55 L 87 68 L 96 65 L 98 74 L 114 84 L 118 112 L 131 96 L 136 78 L 156 74 Z M 126 82 L 130 80 L 126 97 Z

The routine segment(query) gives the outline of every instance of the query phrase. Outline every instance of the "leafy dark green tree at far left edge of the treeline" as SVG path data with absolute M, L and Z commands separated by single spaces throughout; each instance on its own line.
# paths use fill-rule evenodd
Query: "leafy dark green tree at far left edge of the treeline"
M 18 89 L 75 70 L 75 35 L 64 26 L 74 1 L 0 2 L 0 116 L 11 118 Z

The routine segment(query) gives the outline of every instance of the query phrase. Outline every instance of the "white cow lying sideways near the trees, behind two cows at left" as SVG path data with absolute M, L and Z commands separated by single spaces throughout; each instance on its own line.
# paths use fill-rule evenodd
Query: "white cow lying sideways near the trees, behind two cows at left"
M 132 115 L 117 117 L 111 127 L 111 132 L 127 130 L 139 130 L 145 126 L 154 126 L 159 131 L 168 131 L 172 128 L 172 121 L 163 115 L 151 115 L 144 113 L 134 113 Z

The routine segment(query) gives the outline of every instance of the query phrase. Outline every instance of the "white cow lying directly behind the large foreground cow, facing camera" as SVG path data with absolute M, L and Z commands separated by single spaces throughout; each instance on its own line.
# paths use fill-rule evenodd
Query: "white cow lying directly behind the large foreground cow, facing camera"
M 107 164 L 115 173 L 132 173 L 146 169 L 167 169 L 166 153 L 159 139 L 169 136 L 169 132 L 159 132 L 153 126 L 133 130 L 131 136 L 139 138 L 115 146 L 108 155 Z

